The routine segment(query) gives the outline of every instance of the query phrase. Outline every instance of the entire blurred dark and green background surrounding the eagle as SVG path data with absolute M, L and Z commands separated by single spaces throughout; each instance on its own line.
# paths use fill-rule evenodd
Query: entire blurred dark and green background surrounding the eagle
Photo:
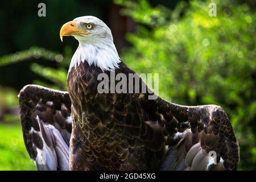
M 46 3 L 46 17 L 38 4 Z M 217 16 L 210 17 L 209 3 Z M 34 170 L 23 144 L 19 90 L 67 90 L 77 42 L 60 27 L 82 15 L 104 20 L 121 59 L 159 73 L 159 95 L 183 105 L 221 105 L 240 143 L 240 170 L 256 169 L 256 3 L 246 1 L 1 1 L 0 170 Z

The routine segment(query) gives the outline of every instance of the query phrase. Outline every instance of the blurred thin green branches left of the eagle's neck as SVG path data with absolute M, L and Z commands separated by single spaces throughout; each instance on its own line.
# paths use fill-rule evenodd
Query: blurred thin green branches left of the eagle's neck
M 57 61 L 59 63 L 57 69 L 44 67 L 36 63 L 31 65 L 31 70 L 33 72 L 46 78 L 49 81 L 52 81 L 54 85 L 49 85 L 39 80 L 35 80 L 33 83 L 48 86 L 50 88 L 67 90 L 67 68 L 72 57 L 72 49 L 70 47 L 66 47 L 64 49 L 63 55 L 44 48 L 31 47 L 25 51 L 19 51 L 11 55 L 0 57 L 0 67 L 28 59 L 42 58 L 47 61 Z

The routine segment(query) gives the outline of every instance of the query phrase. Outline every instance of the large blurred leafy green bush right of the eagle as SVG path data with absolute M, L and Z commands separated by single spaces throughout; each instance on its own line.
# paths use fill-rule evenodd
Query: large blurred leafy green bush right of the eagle
M 138 73 L 159 73 L 166 100 L 221 105 L 240 142 L 239 168 L 256 169 L 255 13 L 234 1 L 181 2 L 174 11 L 146 0 L 114 2 L 141 23 L 127 35 L 133 47 L 123 50 L 122 60 Z M 208 15 L 211 2 L 216 17 Z

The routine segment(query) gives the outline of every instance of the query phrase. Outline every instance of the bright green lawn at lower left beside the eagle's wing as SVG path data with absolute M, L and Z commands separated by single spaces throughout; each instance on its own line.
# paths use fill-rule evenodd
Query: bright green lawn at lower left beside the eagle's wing
M 19 124 L 0 123 L 0 171 L 36 170 L 24 146 Z

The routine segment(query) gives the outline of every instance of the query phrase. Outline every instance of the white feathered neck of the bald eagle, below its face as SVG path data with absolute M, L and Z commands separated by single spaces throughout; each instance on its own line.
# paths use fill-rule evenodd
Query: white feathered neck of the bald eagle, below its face
M 71 59 L 69 72 L 84 61 L 89 65 L 101 68 L 102 71 L 119 68 L 118 64 L 121 62 L 114 43 L 108 41 L 101 41 L 100 43 L 79 42 L 79 47 Z

